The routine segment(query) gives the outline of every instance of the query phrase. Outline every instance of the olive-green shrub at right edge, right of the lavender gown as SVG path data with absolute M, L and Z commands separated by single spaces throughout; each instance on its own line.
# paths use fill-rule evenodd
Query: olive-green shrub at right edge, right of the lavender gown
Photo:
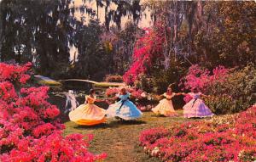
M 215 114 L 236 113 L 256 102 L 256 68 L 248 65 L 241 70 L 231 70 L 225 81 L 207 87 L 212 97 L 205 98 Z

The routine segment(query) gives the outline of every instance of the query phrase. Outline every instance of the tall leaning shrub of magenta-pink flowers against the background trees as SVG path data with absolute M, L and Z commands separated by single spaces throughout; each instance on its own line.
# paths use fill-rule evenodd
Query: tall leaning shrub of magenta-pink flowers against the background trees
M 133 63 L 130 69 L 123 76 L 125 83 L 133 85 L 138 75 L 148 74 L 154 61 L 160 58 L 162 53 L 162 42 L 165 39 L 163 34 L 163 24 L 157 22 L 155 28 L 145 28 L 144 35 L 137 39 L 134 52 L 132 54 Z

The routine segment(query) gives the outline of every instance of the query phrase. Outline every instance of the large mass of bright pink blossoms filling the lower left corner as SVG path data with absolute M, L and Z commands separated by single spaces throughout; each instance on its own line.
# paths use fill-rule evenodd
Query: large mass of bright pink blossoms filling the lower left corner
M 60 110 L 47 102 L 48 87 L 15 89 L 30 78 L 24 66 L 0 64 L 0 161 L 96 161 L 106 154 L 88 151 L 91 136 L 62 137 Z M 26 85 L 25 85 L 26 86 Z

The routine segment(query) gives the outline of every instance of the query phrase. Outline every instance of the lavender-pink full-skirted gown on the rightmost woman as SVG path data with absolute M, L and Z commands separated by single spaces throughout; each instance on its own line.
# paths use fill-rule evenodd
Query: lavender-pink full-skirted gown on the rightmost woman
M 207 105 L 201 100 L 201 93 L 189 92 L 189 95 L 193 98 L 183 106 L 184 118 L 193 117 L 211 117 L 213 116 L 212 111 L 207 107 Z

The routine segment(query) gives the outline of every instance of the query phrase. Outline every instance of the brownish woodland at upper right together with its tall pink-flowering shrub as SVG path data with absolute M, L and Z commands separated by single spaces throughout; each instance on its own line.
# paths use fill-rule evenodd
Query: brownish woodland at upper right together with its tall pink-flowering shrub
M 212 70 L 255 63 L 255 3 L 149 1 L 147 6 L 154 25 L 137 39 L 141 45 L 124 75 L 128 84 L 148 75 L 155 92 L 163 92 L 160 85 L 177 83 L 192 64 Z

